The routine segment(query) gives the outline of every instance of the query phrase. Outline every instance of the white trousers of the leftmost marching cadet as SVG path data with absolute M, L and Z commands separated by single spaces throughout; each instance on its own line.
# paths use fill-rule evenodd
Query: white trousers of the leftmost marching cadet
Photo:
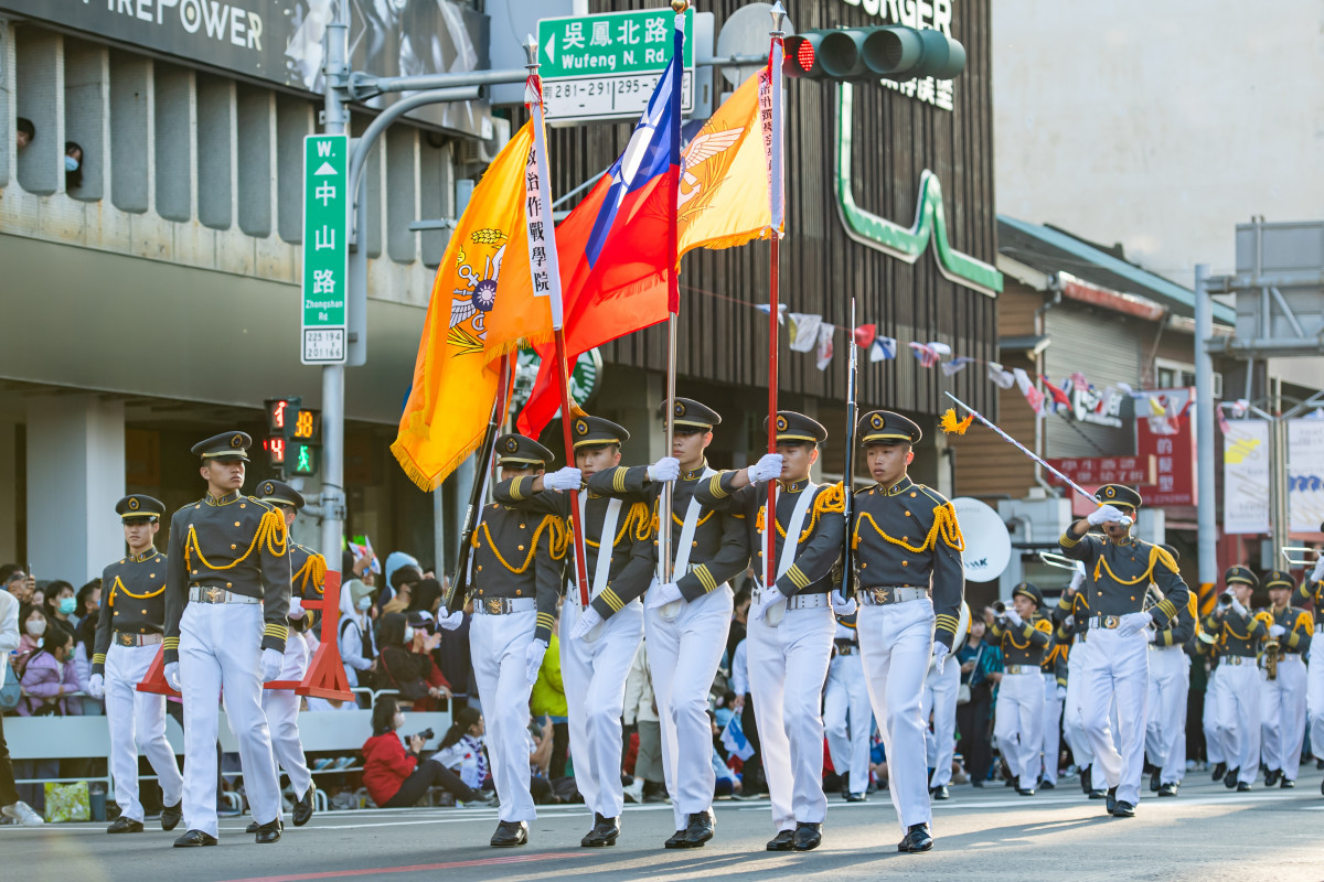
M 184 779 L 175 763 L 175 750 L 166 741 L 166 696 L 138 692 L 138 684 L 156 659 L 158 645 L 122 647 L 106 651 L 106 722 L 110 726 L 110 774 L 120 816 L 143 820 L 138 800 L 138 754 L 156 771 L 166 805 L 177 805 Z

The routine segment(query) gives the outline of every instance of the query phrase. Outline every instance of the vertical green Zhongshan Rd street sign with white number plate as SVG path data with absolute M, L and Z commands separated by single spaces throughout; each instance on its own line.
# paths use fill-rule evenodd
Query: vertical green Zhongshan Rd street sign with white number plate
M 303 139 L 303 331 L 306 365 L 346 361 L 350 276 L 350 139 Z

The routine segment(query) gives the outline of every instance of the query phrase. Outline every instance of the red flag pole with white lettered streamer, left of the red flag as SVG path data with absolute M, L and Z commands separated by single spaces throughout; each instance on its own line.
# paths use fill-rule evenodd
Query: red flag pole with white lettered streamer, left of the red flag
M 534 280 L 534 294 L 544 291 L 551 299 L 552 339 L 556 344 L 556 382 L 561 393 L 561 430 L 565 439 L 565 464 L 575 464 L 575 436 L 571 431 L 573 411 L 571 409 L 569 370 L 565 357 L 565 316 L 561 301 L 561 272 L 556 257 L 556 227 L 552 220 L 551 179 L 547 173 L 547 140 L 543 122 L 543 81 L 538 75 L 538 41 L 528 36 L 524 41 L 528 81 L 524 87 L 524 103 L 534 115 L 534 152 L 530 156 L 530 169 L 526 172 L 526 196 L 528 197 L 528 251 L 530 274 Z M 532 193 L 531 189 L 538 192 Z M 536 225 L 536 229 L 535 229 Z M 542 254 L 535 257 L 535 250 Z M 588 562 L 584 551 L 584 525 L 579 510 L 579 491 L 571 491 L 571 524 L 575 545 L 575 581 L 579 584 L 580 604 L 588 606 Z

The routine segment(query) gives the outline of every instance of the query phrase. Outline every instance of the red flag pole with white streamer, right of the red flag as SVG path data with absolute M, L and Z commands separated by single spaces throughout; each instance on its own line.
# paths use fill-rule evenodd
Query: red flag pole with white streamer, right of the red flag
M 779 305 L 780 271 L 781 271 L 781 222 L 782 222 L 782 165 L 781 165 L 781 56 L 782 56 L 782 21 L 786 11 L 780 0 L 772 7 L 772 46 L 768 52 L 768 83 L 771 97 L 769 116 L 772 132 L 768 152 L 768 197 L 772 204 L 772 250 L 769 254 L 771 266 L 768 270 L 768 452 L 777 452 L 777 321 L 781 317 Z M 764 586 L 771 588 L 777 581 L 777 481 L 768 481 L 768 508 L 764 514 Z

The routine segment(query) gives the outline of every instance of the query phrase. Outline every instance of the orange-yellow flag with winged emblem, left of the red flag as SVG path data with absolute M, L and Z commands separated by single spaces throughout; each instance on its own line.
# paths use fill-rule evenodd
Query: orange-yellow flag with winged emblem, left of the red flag
M 446 246 L 432 286 L 424 320 L 413 386 L 400 417 L 400 430 L 391 452 L 421 489 L 441 485 L 483 440 L 499 385 L 499 360 L 489 366 L 485 341 L 500 320 L 495 309 L 504 294 L 498 291 L 502 261 L 528 261 L 524 216 L 524 167 L 534 132 L 526 124 L 498 153 Z M 495 315 L 494 315 L 495 311 Z M 545 325 L 551 315 L 545 307 Z M 540 315 L 519 336 L 538 336 Z

